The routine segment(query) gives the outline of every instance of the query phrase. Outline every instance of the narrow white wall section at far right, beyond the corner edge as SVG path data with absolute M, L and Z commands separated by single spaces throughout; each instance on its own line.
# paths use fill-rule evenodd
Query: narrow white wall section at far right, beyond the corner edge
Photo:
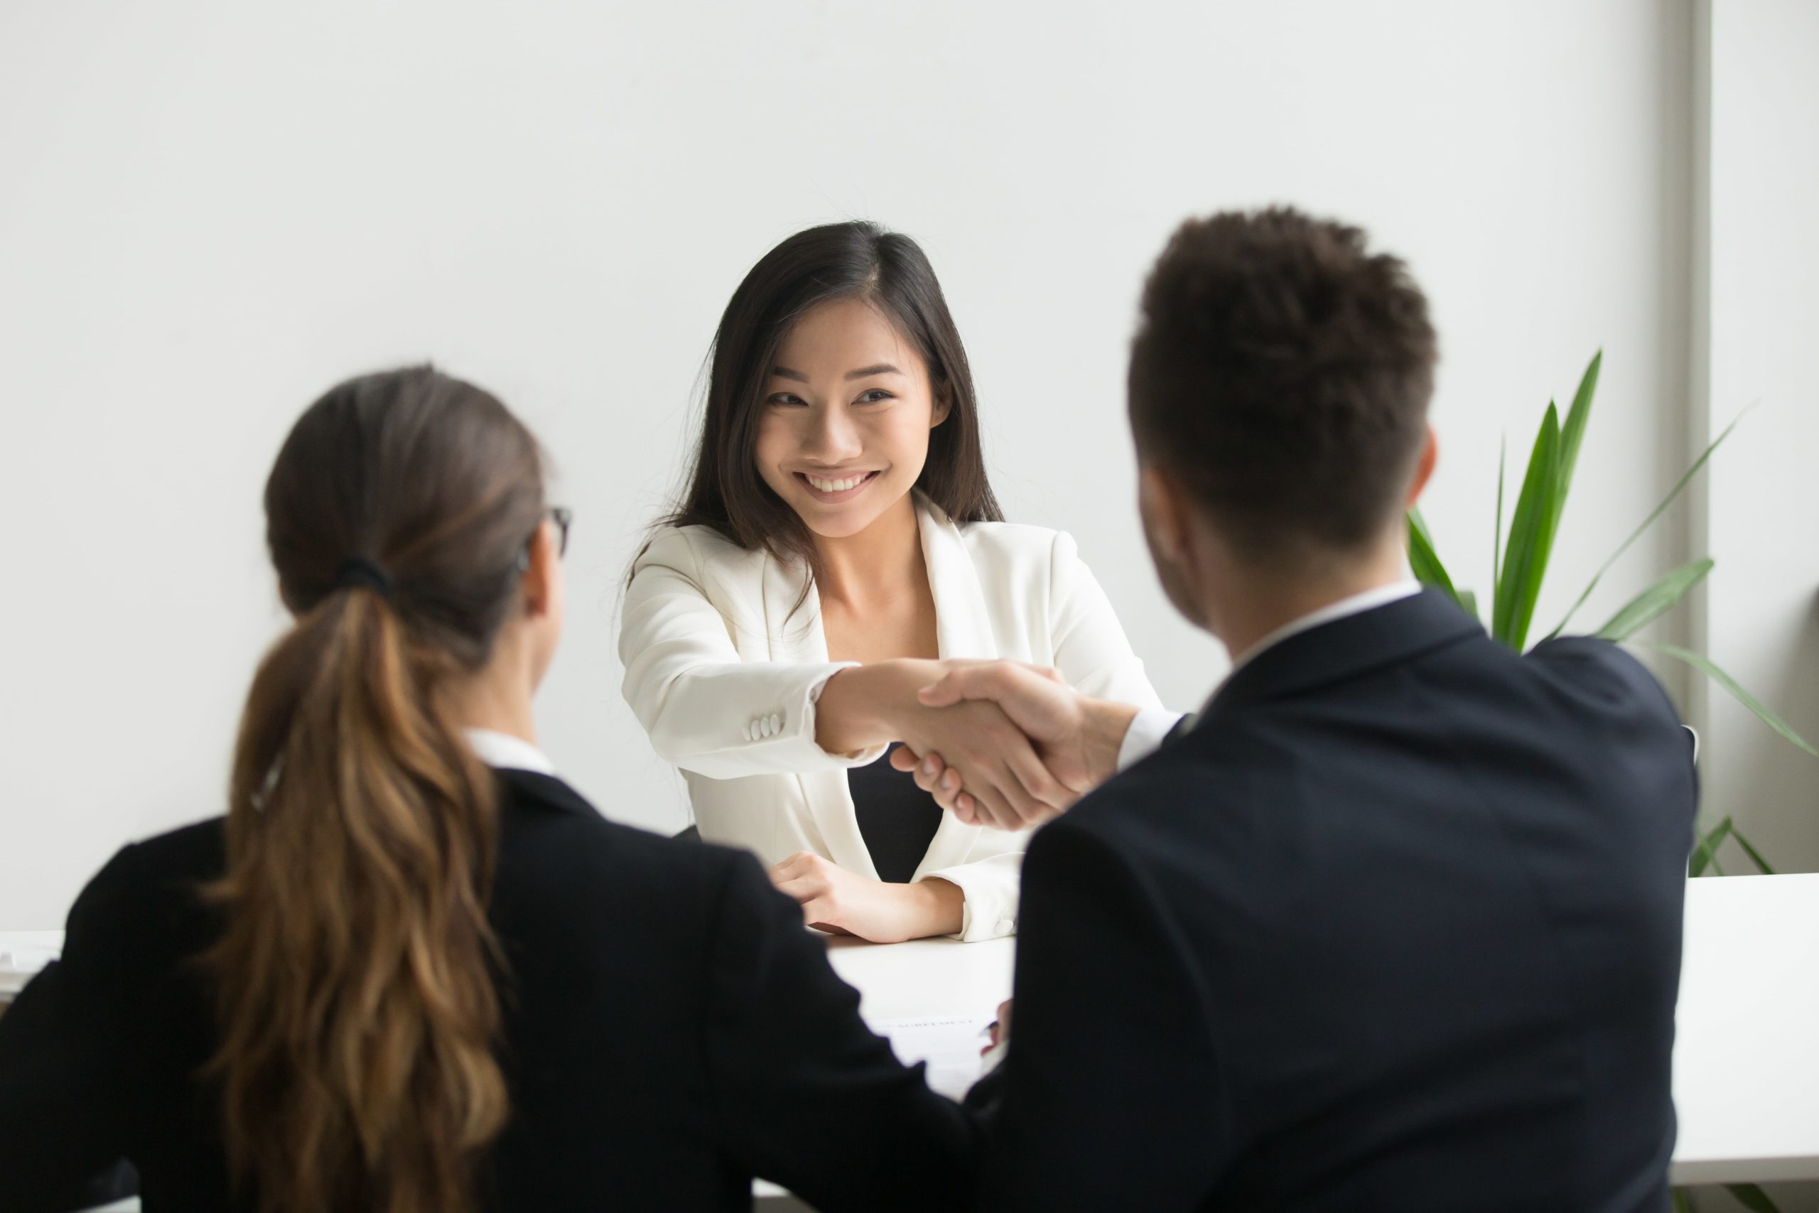
M 1819 5 L 1710 9 L 1710 367 L 1695 426 L 1715 438 L 1706 646 L 1819 744 Z M 1819 758 L 1706 695 L 1708 815 L 1781 869 L 1819 869 Z M 1734 847 L 1732 871 L 1754 871 Z M 1815 1193 L 1819 1195 L 1819 1193 Z

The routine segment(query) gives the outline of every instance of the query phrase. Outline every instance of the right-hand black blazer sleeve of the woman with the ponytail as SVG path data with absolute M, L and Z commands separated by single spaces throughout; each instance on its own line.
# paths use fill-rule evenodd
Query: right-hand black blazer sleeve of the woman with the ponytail
M 859 1018 L 802 911 L 733 857 L 708 955 L 708 1075 L 722 1148 L 817 1209 L 960 1209 L 977 1129 Z

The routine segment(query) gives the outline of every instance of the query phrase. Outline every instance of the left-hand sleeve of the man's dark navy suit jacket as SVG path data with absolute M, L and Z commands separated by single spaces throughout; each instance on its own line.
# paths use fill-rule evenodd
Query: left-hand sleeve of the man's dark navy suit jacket
M 986 1131 L 977 1208 L 1201 1208 L 1233 1133 L 1179 938 L 1142 877 L 1068 818 L 1024 867 L 1010 1046 L 968 1095 Z

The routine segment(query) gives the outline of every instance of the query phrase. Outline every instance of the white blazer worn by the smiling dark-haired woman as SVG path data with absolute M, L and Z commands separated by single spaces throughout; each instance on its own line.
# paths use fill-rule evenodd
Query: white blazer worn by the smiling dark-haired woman
M 944 658 L 1053 666 L 1095 698 L 1161 707 L 1111 604 L 1059 531 L 1004 522 L 957 526 L 917 493 L 922 556 Z M 708 842 L 777 864 L 813 851 L 877 878 L 859 833 L 846 769 L 853 757 L 815 744 L 815 702 L 839 669 L 806 569 L 739 547 L 711 527 L 669 527 L 633 566 L 618 629 L 624 695 L 657 753 L 682 767 Z M 1017 884 L 1030 831 L 944 815 L 915 880 L 940 877 L 966 895 L 959 938 L 1017 929 Z

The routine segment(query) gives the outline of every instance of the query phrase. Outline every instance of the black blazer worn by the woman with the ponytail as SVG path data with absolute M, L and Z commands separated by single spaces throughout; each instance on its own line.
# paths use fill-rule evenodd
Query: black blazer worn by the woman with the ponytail
M 555 778 L 498 778 L 513 1120 L 484 1208 L 746 1209 L 753 1175 L 822 1209 L 966 1198 L 966 1115 L 866 1029 L 749 855 L 609 824 Z M 146 1213 L 249 1208 L 193 1078 L 216 1038 L 187 964 L 216 926 L 193 889 L 222 847 L 216 818 L 120 851 L 64 958 L 0 1015 L 0 1206 L 53 1208 L 126 1157 Z

